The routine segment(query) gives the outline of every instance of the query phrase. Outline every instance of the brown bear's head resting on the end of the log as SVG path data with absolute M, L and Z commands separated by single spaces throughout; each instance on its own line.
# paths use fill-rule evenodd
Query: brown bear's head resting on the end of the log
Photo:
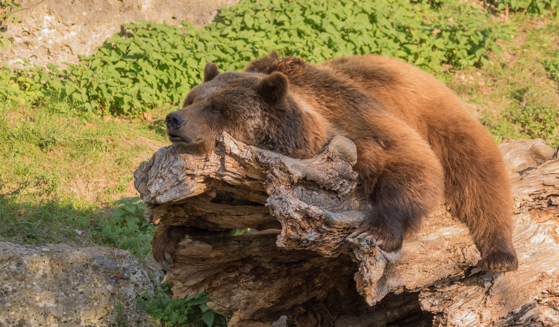
M 182 109 L 165 118 L 167 134 L 171 142 L 197 154 L 209 153 L 217 137 L 227 132 L 249 145 L 292 157 L 312 156 L 316 142 L 304 133 L 309 118 L 288 89 L 281 72 L 220 73 L 216 64 L 208 63 L 204 82 L 192 88 Z

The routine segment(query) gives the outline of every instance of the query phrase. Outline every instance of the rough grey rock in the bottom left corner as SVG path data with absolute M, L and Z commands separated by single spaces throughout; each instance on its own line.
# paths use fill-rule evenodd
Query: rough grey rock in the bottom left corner
M 0 326 L 159 325 L 136 302 L 153 284 L 128 251 L 0 242 L 0 276 Z

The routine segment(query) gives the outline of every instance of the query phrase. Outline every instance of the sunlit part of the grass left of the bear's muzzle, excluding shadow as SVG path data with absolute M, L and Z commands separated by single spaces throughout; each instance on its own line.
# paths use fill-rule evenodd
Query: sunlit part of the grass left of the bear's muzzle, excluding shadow
M 152 122 L 59 113 L 51 104 L 0 108 L 0 180 L 29 185 L 20 199 L 73 198 L 110 204 L 132 196 L 132 171 L 168 145 L 157 115 Z M 165 109 L 161 110 L 166 114 Z

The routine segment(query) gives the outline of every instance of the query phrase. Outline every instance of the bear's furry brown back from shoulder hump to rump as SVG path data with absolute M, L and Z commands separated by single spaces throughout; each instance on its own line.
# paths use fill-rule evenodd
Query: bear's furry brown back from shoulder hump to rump
M 423 136 L 442 157 L 447 152 L 444 148 L 456 142 L 472 140 L 494 147 L 484 127 L 452 90 L 395 58 L 356 55 L 314 65 L 296 57 L 272 55 L 250 63 L 246 71 L 285 74 L 297 99 L 345 136 L 375 134 L 381 116 L 390 115 Z

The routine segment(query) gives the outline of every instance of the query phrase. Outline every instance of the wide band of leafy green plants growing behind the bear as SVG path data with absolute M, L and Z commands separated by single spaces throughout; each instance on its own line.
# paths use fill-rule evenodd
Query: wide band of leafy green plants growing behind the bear
M 72 101 L 96 114 L 140 118 L 181 103 L 207 62 L 239 71 L 278 50 L 311 63 L 353 54 L 395 56 L 427 71 L 487 63 L 509 29 L 469 2 L 444 0 L 241 0 L 203 29 L 138 21 L 68 69 L 0 71 L 0 99 Z M 67 107 L 64 107 L 67 108 Z M 62 107 L 60 110 L 64 110 Z

